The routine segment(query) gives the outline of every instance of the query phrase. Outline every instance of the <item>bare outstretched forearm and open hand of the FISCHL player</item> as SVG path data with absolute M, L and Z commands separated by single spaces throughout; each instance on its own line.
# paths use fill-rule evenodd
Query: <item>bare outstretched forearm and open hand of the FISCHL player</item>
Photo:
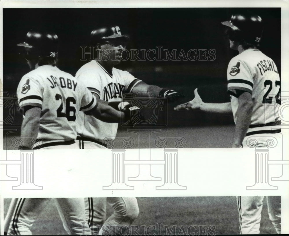
M 225 103 L 205 103 L 202 101 L 198 89 L 194 90 L 195 97 L 192 101 L 180 104 L 175 107 L 175 110 L 194 110 L 200 109 L 210 113 L 231 114 L 232 107 L 230 102 Z

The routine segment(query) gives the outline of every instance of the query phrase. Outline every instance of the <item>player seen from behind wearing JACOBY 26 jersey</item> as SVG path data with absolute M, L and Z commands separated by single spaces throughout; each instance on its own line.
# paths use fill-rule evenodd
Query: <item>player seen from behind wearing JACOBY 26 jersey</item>
M 107 122 L 119 122 L 124 113 L 115 110 L 90 93 L 72 75 L 56 67 L 58 37 L 52 33 L 29 31 L 25 58 L 31 72 L 17 88 L 18 102 L 24 114 L 19 149 L 78 149 L 76 120 L 79 111 Z M 35 140 L 39 142 L 34 142 Z M 19 198 L 8 235 L 32 235 L 30 228 L 50 198 Z M 90 235 L 85 220 L 84 198 L 56 198 L 56 205 L 68 234 Z M 84 228 L 84 229 L 83 229 Z

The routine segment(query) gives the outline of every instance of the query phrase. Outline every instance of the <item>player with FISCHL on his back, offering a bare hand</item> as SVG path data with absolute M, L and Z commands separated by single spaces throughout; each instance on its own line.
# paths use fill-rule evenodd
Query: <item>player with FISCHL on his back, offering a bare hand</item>
M 266 136 L 280 138 L 277 110 L 280 106 L 280 77 L 274 61 L 259 50 L 262 36 L 260 16 L 236 14 L 228 27 L 230 48 L 239 55 L 232 58 L 227 70 L 231 102 L 204 103 L 195 89 L 195 98 L 178 105 L 175 110 L 200 109 L 214 113 L 233 113 L 236 124 L 232 147 L 248 147 L 247 138 L 254 137 L 258 147 L 266 146 Z M 276 108 L 277 106 L 277 108 Z M 259 234 L 264 196 L 238 196 L 241 234 Z M 267 196 L 268 213 L 277 233 L 281 233 L 281 197 Z

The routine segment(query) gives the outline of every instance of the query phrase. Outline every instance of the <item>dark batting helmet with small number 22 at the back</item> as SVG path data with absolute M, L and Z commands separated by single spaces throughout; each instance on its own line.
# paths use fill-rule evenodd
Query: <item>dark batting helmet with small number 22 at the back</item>
M 227 31 L 229 40 L 240 42 L 245 40 L 249 43 L 259 43 L 262 38 L 263 24 L 260 16 L 255 14 L 235 14 L 231 20 L 222 22 L 229 27 Z

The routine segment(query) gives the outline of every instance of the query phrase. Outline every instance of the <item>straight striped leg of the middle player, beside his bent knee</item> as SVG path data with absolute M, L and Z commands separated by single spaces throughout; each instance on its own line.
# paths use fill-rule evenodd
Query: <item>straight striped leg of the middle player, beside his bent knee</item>
M 106 217 L 106 198 L 84 198 L 85 217 L 92 235 L 98 235 Z

